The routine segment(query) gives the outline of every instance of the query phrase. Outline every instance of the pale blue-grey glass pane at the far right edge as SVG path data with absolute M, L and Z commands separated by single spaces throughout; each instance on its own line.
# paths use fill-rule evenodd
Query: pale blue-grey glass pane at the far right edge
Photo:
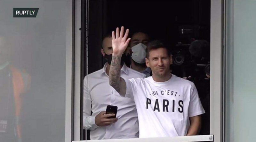
M 256 1 L 227 1 L 226 141 L 254 141 Z

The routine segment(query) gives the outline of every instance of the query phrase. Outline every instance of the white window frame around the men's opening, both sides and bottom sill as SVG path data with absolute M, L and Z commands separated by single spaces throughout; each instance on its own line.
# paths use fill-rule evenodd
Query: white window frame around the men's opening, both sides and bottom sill
M 210 135 L 180 136 L 165 138 L 129 138 L 108 140 L 80 141 L 80 32 L 75 33 L 75 96 L 74 96 L 74 141 L 73 142 L 197 142 L 197 141 L 223 141 L 223 9 L 224 0 L 211 0 L 211 80 L 210 80 Z M 81 0 L 76 0 L 76 28 L 78 31 L 81 21 Z M 79 24 L 77 24 L 79 23 Z M 85 49 L 86 50 L 86 49 Z M 88 58 L 88 56 L 87 56 Z M 67 100 L 66 100 L 67 102 Z M 66 108 L 67 111 L 67 108 Z M 67 113 L 66 113 L 67 114 Z M 67 117 L 67 116 L 66 116 Z M 67 127 L 67 124 L 66 124 Z M 67 142 L 67 140 L 66 140 Z

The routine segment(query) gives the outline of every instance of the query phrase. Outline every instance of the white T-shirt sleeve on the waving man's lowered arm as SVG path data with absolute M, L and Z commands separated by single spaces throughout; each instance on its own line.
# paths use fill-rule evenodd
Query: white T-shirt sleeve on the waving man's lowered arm
M 190 101 L 188 107 L 188 117 L 198 116 L 204 114 L 204 108 L 201 104 L 200 98 L 198 96 L 198 92 L 195 84 L 191 87 L 190 91 Z

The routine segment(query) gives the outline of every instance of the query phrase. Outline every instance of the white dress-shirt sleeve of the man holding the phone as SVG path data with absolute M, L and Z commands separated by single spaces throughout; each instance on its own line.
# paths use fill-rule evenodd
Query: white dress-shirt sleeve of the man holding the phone
M 84 129 L 95 130 L 98 125 L 95 123 L 95 116 L 91 116 L 91 95 L 90 89 L 86 77 L 84 78 L 84 113 L 83 113 L 83 123 Z

